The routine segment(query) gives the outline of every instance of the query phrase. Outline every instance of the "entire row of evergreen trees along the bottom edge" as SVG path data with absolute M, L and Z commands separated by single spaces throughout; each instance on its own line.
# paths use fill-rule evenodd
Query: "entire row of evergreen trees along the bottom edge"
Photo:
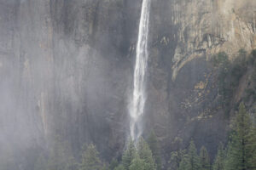
M 152 132 L 147 141 L 139 139 L 135 145 L 130 141 L 120 160 L 113 159 L 109 164 L 102 161 L 94 144 L 86 144 L 78 158 L 73 156 L 70 145 L 59 136 L 55 138 L 47 154 L 42 153 L 34 163 L 34 170 L 255 170 L 256 169 L 256 126 L 251 121 L 245 105 L 230 123 L 228 144 L 219 144 L 218 153 L 211 162 L 207 148 L 197 150 L 191 140 L 187 150 L 173 151 L 167 167 L 162 167 L 160 147 Z M 13 170 L 11 153 L 9 159 L 1 163 L 3 170 Z

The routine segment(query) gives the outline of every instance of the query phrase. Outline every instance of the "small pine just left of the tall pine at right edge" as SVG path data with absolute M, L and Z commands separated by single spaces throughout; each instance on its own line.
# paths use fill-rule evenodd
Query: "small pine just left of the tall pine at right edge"
M 221 143 L 218 146 L 218 153 L 213 162 L 212 169 L 224 170 L 224 159 L 225 159 L 224 145 Z

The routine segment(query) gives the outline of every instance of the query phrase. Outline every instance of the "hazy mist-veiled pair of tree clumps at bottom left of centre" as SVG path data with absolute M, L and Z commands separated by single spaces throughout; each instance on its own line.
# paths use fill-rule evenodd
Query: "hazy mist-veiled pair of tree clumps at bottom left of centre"
M 67 142 L 63 142 L 60 136 L 55 138 L 51 146 L 48 159 L 44 155 L 38 156 L 35 170 L 107 170 L 102 163 L 94 144 L 89 144 L 82 150 L 81 162 L 78 164 L 72 155 Z

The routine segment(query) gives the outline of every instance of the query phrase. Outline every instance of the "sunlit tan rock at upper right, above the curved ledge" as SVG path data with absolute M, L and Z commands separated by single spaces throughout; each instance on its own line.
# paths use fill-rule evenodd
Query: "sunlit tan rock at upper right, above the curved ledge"
M 254 1 L 177 1 L 172 23 L 178 25 L 172 80 L 190 60 L 205 54 L 255 48 Z

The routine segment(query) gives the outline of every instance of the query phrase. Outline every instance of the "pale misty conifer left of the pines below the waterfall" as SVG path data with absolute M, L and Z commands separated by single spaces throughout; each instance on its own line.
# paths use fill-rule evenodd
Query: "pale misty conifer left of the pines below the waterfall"
M 79 170 L 102 170 L 102 161 L 94 144 L 89 144 L 84 150 Z

